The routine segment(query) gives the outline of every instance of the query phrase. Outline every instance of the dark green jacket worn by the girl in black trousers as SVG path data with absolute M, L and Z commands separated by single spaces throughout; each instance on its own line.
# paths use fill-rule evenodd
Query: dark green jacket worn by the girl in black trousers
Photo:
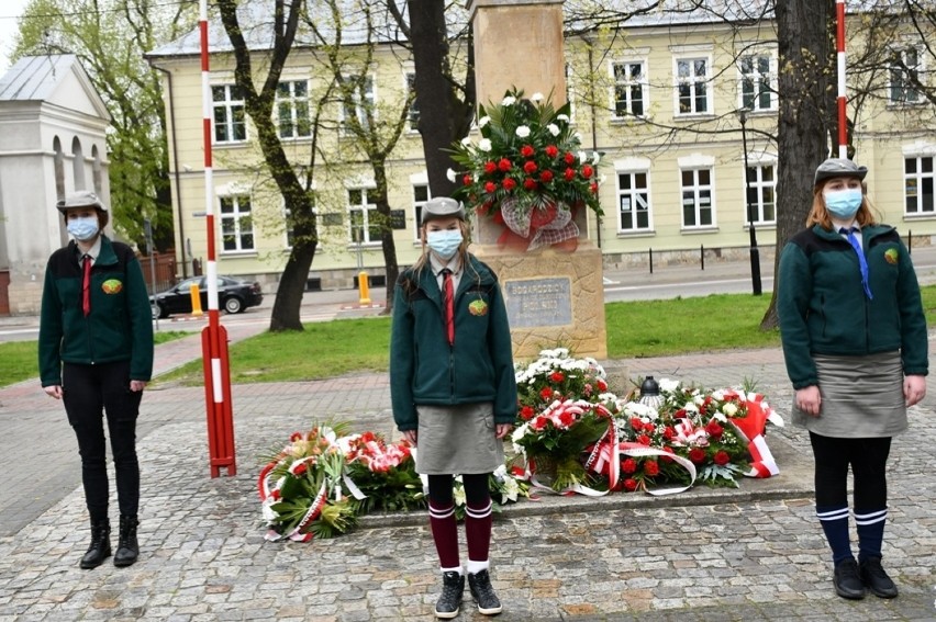
M 91 269 L 91 312 L 81 308 L 82 272 L 75 241 L 45 269 L 38 359 L 43 386 L 62 384 L 62 363 L 130 361 L 130 380 L 153 374 L 153 316 L 143 271 L 125 244 L 101 236 Z

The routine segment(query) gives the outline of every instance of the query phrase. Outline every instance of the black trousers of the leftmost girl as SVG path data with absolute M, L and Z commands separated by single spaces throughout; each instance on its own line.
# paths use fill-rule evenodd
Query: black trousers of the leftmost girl
M 120 513 L 135 517 L 140 505 L 136 417 L 143 392 L 130 391 L 130 361 L 97 365 L 65 363 L 62 388 L 68 422 L 78 438 L 85 502 L 91 520 L 108 518 L 104 414 L 114 459 Z

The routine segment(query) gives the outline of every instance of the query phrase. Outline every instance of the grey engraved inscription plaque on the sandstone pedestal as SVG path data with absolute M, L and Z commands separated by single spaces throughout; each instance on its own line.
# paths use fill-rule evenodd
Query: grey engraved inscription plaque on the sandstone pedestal
M 568 278 L 506 281 L 504 299 L 511 328 L 572 324 L 571 292 Z

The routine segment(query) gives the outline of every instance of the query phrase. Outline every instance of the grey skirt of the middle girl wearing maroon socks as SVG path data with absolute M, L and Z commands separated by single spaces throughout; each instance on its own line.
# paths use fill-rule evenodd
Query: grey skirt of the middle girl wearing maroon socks
M 490 403 L 416 406 L 416 472 L 425 475 L 491 473 L 504 462 Z

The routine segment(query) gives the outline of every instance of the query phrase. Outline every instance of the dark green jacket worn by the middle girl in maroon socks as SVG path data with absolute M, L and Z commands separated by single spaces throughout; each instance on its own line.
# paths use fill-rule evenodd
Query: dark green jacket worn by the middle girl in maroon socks
M 397 281 L 390 396 L 401 431 L 419 427 L 416 405 L 493 403 L 495 423 L 516 418 L 516 377 L 503 295 L 491 269 L 470 261 L 455 293 L 455 344 L 445 337 L 442 292 L 432 270 Z

